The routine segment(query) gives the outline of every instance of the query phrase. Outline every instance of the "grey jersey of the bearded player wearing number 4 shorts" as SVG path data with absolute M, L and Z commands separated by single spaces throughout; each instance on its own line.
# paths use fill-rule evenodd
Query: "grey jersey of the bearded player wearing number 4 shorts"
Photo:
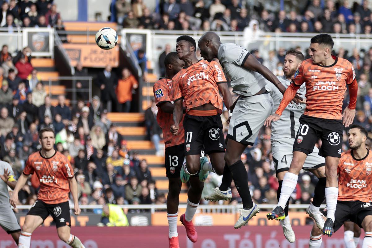
M 278 76 L 278 79 L 286 88 L 291 84 L 291 81 L 287 80 L 285 76 Z M 279 107 L 280 101 L 282 101 L 283 95 L 280 93 L 279 89 L 270 82 L 266 84 L 265 88 L 270 92 L 270 95 L 273 98 L 273 112 L 275 112 Z M 305 84 L 302 84 L 297 92 L 305 99 Z M 306 104 L 297 105 L 289 103 L 283 111 L 282 116 L 280 116 L 280 119 L 271 123 L 271 139 L 278 140 L 280 138 L 295 138 L 296 132 L 300 126 L 298 119 L 304 113 L 305 108 Z

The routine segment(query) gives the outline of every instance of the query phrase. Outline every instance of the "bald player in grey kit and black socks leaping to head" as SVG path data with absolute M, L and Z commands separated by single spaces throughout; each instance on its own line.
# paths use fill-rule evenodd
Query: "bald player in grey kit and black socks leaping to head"
M 206 200 L 231 199 L 231 190 L 228 187 L 234 179 L 243 201 L 243 209 L 234 225 L 234 228 L 240 228 L 259 212 L 259 207 L 253 203 L 249 193 L 248 175 L 240 157 L 248 145 L 253 145 L 265 119 L 272 114 L 274 104 L 265 89 L 267 80 L 282 93 L 285 92 L 285 87 L 246 49 L 234 43 L 222 44 L 214 32 L 206 32 L 200 38 L 198 46 L 206 61 L 219 59 L 231 79 L 233 91 L 240 95 L 230 120 L 222 183 L 214 192 L 205 196 Z M 202 169 L 205 167 L 207 166 L 202 164 Z

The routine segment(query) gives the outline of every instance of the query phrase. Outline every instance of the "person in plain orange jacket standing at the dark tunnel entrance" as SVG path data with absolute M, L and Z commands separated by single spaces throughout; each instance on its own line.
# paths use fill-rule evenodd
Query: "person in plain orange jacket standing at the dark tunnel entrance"
M 121 104 L 121 112 L 129 112 L 131 110 L 132 91 L 138 88 L 138 82 L 131 74 L 128 68 L 122 69 L 122 77 L 118 81 L 116 87 L 116 97 Z

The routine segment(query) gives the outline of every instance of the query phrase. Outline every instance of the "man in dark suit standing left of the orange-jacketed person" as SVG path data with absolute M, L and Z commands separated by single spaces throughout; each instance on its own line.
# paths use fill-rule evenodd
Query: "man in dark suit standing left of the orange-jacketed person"
M 111 112 L 119 112 L 118 99 L 116 98 L 115 88 L 118 85 L 118 79 L 112 72 L 111 65 L 107 65 L 105 70 L 99 72 L 96 80 L 97 86 L 101 89 L 101 100 L 105 108 Z M 115 107 L 112 107 L 112 104 Z

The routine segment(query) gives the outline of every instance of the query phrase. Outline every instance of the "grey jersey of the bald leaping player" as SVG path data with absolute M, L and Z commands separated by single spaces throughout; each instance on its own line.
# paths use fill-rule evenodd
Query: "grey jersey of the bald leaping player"
M 231 80 L 231 87 L 237 94 L 250 97 L 259 92 L 267 83 L 259 74 L 243 67 L 249 52 L 234 43 L 224 43 L 218 48 L 218 59 Z

